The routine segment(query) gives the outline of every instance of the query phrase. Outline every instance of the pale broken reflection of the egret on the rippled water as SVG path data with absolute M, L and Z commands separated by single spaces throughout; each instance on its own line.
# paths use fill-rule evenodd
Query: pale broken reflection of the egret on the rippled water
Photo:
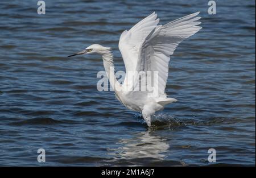
M 170 147 L 167 139 L 152 135 L 150 131 L 136 134 L 131 139 L 121 139 L 118 144 L 123 146 L 114 149 L 115 159 L 154 158 L 164 159 L 164 152 Z

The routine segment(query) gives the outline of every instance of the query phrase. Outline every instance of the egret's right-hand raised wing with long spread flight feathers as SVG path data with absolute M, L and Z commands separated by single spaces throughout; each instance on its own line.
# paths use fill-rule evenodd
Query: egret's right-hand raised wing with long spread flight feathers
M 154 84 L 153 88 L 159 95 L 164 94 L 166 88 L 170 55 L 180 42 L 201 29 L 197 26 L 201 23 L 197 22 L 200 17 L 195 17 L 198 14 L 199 12 L 157 26 L 142 44 L 136 70 L 158 71 L 158 85 Z

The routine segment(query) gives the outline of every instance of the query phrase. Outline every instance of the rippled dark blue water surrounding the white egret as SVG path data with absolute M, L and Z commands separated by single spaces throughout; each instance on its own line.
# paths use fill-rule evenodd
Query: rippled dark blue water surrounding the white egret
M 255 165 L 255 1 L 0 2 L 0 165 Z M 201 11 L 203 29 L 176 49 L 167 105 L 147 129 L 113 92 L 98 92 L 100 56 L 151 14 L 160 24 Z M 46 163 L 38 163 L 38 149 Z M 208 150 L 217 151 L 216 163 Z

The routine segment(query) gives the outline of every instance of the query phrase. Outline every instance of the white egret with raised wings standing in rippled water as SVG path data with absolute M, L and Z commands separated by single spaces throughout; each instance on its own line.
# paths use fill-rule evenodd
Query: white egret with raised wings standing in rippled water
M 199 12 L 176 19 L 165 25 L 158 25 L 159 19 L 152 13 L 135 24 L 129 31 L 122 32 L 119 39 L 119 50 L 125 63 L 126 76 L 123 84 L 119 84 L 111 68 L 114 67 L 112 48 L 93 44 L 74 55 L 99 53 L 102 55 L 104 68 L 114 89 L 117 99 L 128 109 L 140 111 L 147 125 L 151 126 L 151 116 L 155 111 L 162 110 L 165 105 L 176 102 L 164 93 L 168 77 L 168 63 L 175 48 L 184 39 L 201 29 L 197 16 Z M 68 56 L 68 57 L 71 57 Z M 142 78 L 138 72 L 156 71 L 158 77 L 152 90 L 134 90 L 141 85 Z M 128 73 L 132 73 L 132 77 Z M 153 76 L 153 75 L 152 75 Z M 110 80 L 110 79 L 113 80 Z M 132 80 L 131 80 L 132 78 Z M 134 78 L 137 80 L 134 80 Z M 144 85 L 149 85 L 147 82 Z M 146 87 L 147 88 L 147 87 Z M 150 93 L 156 93 L 150 95 Z

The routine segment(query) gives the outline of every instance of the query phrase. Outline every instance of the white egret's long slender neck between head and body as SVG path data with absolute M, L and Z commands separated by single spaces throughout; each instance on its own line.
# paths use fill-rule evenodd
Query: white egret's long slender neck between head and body
M 119 82 L 117 81 L 117 78 L 115 78 L 115 72 L 114 72 L 114 64 L 113 64 L 113 54 L 109 50 L 108 52 L 102 54 L 103 64 L 105 71 L 108 75 L 110 85 L 114 89 L 115 93 L 118 91 L 121 91 L 121 86 L 119 85 Z

